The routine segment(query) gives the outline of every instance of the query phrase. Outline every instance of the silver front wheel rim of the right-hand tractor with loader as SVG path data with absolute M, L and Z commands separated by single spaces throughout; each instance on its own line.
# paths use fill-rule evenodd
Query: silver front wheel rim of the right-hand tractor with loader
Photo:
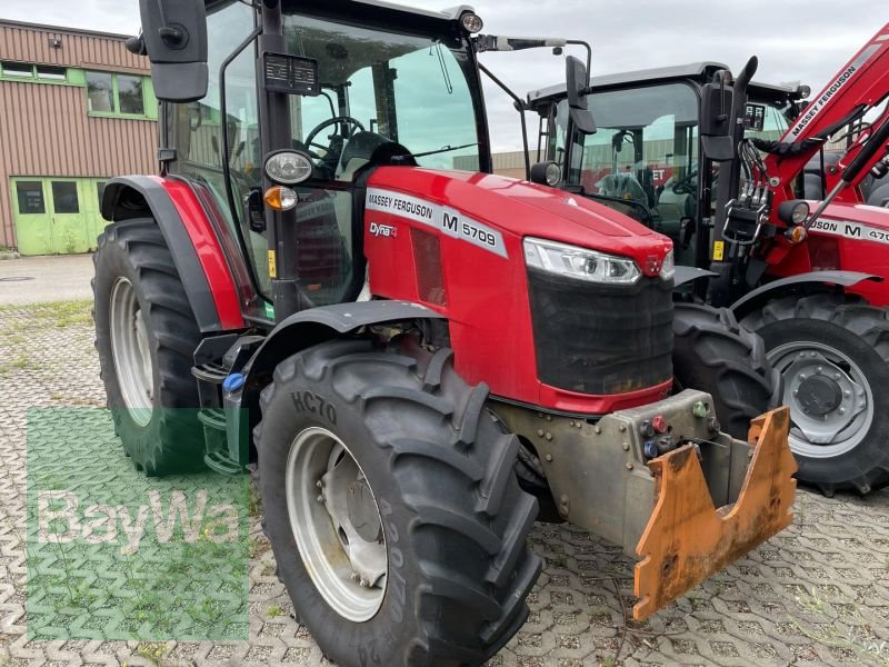
M 867 376 L 848 355 L 798 341 L 778 346 L 767 357 L 785 379 L 795 454 L 832 458 L 858 447 L 873 421 L 873 396 Z

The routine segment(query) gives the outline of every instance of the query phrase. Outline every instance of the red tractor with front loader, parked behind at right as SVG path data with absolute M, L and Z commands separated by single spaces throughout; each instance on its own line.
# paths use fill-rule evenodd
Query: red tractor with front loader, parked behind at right
M 889 165 L 887 34 L 808 106 L 806 87 L 752 83 L 755 59 L 737 79 L 698 63 L 593 80 L 595 135 L 575 127 L 565 86 L 528 98 L 561 187 L 668 235 L 677 263 L 707 278 L 698 300 L 762 336 L 798 478 L 828 495 L 889 484 L 889 209 L 865 206 L 859 187 Z M 845 156 L 825 155 L 850 131 Z

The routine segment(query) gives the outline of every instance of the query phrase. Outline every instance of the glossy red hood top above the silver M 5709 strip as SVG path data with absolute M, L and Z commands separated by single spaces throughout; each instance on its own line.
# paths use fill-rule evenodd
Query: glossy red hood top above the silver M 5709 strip
M 380 167 L 369 188 L 450 207 L 503 233 L 539 237 L 660 265 L 672 241 L 613 209 L 512 178 L 416 167 Z

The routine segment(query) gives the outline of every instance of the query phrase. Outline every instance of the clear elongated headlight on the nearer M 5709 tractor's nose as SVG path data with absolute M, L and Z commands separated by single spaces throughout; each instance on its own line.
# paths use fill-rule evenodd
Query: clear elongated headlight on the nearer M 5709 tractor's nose
M 642 276 L 628 257 L 568 246 L 557 241 L 525 239 L 525 261 L 529 267 L 589 282 L 632 285 Z

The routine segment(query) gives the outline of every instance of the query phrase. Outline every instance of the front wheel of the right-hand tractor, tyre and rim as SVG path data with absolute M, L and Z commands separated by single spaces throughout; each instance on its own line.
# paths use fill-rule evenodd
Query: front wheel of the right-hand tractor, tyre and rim
M 769 359 L 785 374 L 797 479 L 827 496 L 889 485 L 889 312 L 852 295 L 790 295 L 743 322 L 762 336 Z M 818 402 L 823 397 L 828 402 Z M 829 442 L 811 441 L 813 431 L 807 436 L 800 424 L 821 428 L 812 415 L 842 430 Z

